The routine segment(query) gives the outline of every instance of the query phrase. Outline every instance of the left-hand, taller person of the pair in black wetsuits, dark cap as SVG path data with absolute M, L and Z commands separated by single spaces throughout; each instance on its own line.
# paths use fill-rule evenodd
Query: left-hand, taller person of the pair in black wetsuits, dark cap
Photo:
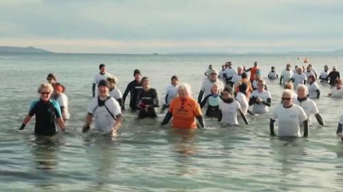
M 130 92 L 131 110 L 132 111 L 139 110 L 139 108 L 137 107 L 138 94 L 143 88 L 142 83 L 141 83 L 141 71 L 139 71 L 139 69 L 134 69 L 133 76 L 134 76 L 134 80 L 128 84 L 123 94 L 123 106 L 121 107 L 121 110 L 125 110 L 125 100 L 129 92 Z

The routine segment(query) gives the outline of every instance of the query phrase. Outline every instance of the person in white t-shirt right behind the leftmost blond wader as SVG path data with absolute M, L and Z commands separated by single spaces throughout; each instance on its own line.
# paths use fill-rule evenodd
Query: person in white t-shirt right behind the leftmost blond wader
M 69 120 L 70 115 L 68 111 L 68 97 L 63 93 L 64 86 L 60 83 L 53 84 L 54 87 L 54 99 L 60 104 L 63 121 Z

